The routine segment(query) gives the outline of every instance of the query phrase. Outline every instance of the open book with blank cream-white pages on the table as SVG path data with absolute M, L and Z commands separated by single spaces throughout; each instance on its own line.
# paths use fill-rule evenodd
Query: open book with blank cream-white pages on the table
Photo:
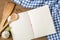
M 31 40 L 56 33 L 48 5 L 18 15 L 19 19 L 10 24 L 14 40 Z

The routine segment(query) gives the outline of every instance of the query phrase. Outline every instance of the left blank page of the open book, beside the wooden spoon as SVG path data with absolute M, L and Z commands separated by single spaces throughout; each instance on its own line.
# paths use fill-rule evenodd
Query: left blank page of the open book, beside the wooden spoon
M 19 13 L 19 19 L 10 24 L 13 40 L 31 40 L 33 32 L 27 12 Z

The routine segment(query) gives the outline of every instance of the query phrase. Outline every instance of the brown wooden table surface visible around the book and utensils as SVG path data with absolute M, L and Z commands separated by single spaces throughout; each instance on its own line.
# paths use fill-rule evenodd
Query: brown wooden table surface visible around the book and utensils
M 2 16 L 3 16 L 4 5 L 5 5 L 5 3 L 9 3 L 9 2 L 11 2 L 11 1 L 10 0 L 0 0 L 0 22 L 1 22 L 1 19 L 2 19 Z M 13 12 L 20 13 L 20 12 L 24 12 L 24 11 L 27 11 L 27 10 L 31 10 L 31 9 L 23 8 L 20 5 L 16 5 Z M 0 36 L 0 40 L 13 40 L 13 38 L 12 38 L 11 35 L 8 39 L 3 39 Z M 37 38 L 37 39 L 34 39 L 34 40 L 47 40 L 47 39 L 46 39 L 46 37 L 42 37 L 42 38 Z

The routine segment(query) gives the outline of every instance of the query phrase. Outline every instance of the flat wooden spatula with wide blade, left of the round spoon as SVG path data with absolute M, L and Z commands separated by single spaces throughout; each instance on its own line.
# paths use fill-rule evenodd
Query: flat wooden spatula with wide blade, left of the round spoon
M 14 9 L 15 4 L 14 3 L 8 3 L 4 6 L 4 11 L 3 11 L 3 16 L 2 16 L 2 21 L 0 23 L 0 33 L 3 30 L 3 25 L 8 18 L 8 16 L 11 14 L 12 10 Z

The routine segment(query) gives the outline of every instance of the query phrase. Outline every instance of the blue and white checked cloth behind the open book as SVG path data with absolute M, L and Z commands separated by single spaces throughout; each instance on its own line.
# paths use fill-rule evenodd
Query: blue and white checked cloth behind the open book
M 56 28 L 56 33 L 47 35 L 47 40 L 60 40 L 60 0 L 13 0 L 13 1 L 26 8 L 37 8 L 43 5 L 49 5 L 50 12 Z

